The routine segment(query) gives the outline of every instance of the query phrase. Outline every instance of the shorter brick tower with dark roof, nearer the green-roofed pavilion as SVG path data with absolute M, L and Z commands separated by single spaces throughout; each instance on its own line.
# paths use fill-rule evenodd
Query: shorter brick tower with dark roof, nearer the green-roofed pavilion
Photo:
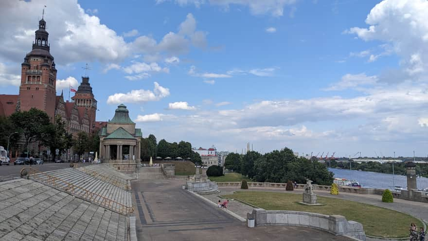
M 92 87 L 89 84 L 89 76 L 82 76 L 77 92 L 71 99 L 76 103 L 77 108 L 86 108 L 89 116 L 89 132 L 95 127 L 95 115 L 97 112 L 97 101 L 92 93 Z

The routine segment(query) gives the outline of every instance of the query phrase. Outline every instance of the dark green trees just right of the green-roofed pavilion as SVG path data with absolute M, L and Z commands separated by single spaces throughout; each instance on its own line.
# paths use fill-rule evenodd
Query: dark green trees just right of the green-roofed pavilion
M 167 158 L 170 157 L 175 159 L 181 157 L 184 160 L 189 160 L 201 164 L 202 159 L 199 154 L 192 150 L 192 144 L 186 141 L 177 142 L 167 142 L 165 139 L 162 139 L 157 142 L 156 136 L 150 134 L 147 138 L 141 138 L 141 159 L 142 161 L 149 161 L 150 157 L 156 158 Z

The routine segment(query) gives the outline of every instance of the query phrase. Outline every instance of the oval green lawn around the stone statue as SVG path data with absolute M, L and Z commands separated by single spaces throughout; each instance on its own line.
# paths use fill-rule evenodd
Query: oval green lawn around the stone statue
M 306 206 L 297 203 L 302 201 L 302 194 L 237 191 L 224 197 L 237 198 L 266 210 L 293 210 L 327 215 L 343 215 L 348 221 L 361 222 L 367 235 L 377 237 L 407 238 L 411 222 L 415 222 L 418 229 L 423 227 L 418 219 L 410 215 L 337 198 L 318 196 L 318 202 L 323 204 L 322 206 Z M 381 198 L 379 196 L 379 199 Z

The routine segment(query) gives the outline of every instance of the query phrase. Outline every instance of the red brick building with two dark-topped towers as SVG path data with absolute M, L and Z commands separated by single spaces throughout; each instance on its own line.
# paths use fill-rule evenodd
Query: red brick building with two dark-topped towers
M 61 116 L 68 130 L 74 135 L 79 131 L 91 132 L 95 127 L 97 101 L 89 84 L 89 77 L 82 77 L 82 83 L 71 97 L 56 95 L 56 72 L 54 57 L 50 53 L 46 21 L 39 21 L 33 49 L 21 64 L 19 94 L 0 94 L 0 116 L 9 116 L 15 111 L 36 108 L 45 111 L 51 120 Z

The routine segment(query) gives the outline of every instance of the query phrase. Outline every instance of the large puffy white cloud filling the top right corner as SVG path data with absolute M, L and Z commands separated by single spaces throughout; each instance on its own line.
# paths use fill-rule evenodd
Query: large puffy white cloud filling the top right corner
M 383 0 L 370 11 L 365 22 L 368 28 L 354 27 L 345 33 L 356 34 L 365 41 L 384 41 L 392 46 L 386 53 L 370 56 L 369 62 L 393 52 L 402 57 L 400 64 L 408 74 L 416 76 L 427 72 L 427 0 Z

